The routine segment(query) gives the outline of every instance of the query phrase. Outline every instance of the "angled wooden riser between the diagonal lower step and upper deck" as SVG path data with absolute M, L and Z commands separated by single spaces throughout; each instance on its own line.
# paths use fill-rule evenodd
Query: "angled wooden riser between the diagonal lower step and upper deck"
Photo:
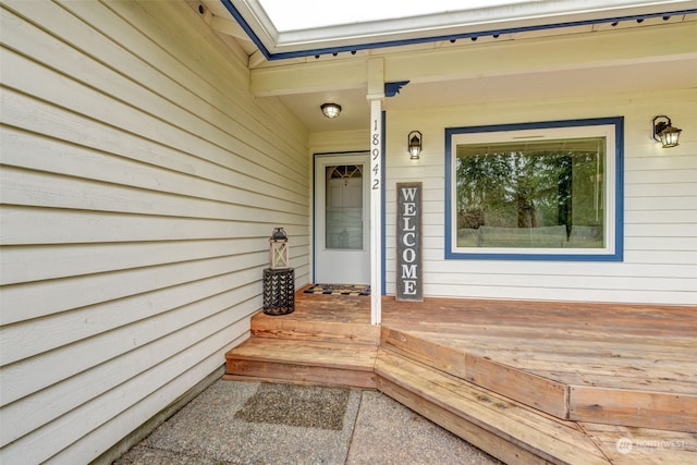
M 381 345 L 514 401 L 568 419 L 568 388 L 563 383 L 463 354 L 404 331 L 382 329 Z

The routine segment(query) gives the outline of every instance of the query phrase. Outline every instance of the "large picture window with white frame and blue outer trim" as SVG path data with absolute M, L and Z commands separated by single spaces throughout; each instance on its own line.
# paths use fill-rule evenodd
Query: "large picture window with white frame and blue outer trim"
M 622 119 L 448 129 L 447 258 L 621 260 Z

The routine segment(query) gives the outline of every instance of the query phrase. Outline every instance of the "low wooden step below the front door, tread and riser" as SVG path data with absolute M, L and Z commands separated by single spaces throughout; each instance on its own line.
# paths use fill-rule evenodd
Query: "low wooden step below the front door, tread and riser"
M 376 389 L 376 344 L 250 338 L 225 354 L 224 379 Z

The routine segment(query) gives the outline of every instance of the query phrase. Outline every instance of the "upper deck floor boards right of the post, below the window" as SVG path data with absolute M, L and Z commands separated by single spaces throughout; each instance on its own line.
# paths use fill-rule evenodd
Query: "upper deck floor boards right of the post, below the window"
M 697 394 L 697 307 L 382 302 L 383 326 L 573 386 Z

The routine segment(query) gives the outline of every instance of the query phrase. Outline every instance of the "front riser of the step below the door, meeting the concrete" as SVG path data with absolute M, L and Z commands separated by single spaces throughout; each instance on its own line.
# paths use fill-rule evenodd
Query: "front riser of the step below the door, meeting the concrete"
M 372 370 L 364 371 L 228 358 L 225 371 L 228 379 L 246 379 L 247 381 L 301 382 L 363 389 L 377 388 L 377 376 Z

